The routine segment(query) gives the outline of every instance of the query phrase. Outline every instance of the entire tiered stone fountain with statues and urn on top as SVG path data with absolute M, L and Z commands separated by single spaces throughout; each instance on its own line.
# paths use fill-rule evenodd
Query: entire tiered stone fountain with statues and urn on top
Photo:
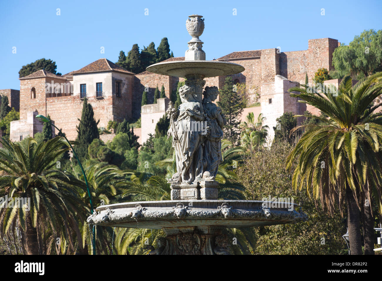
M 171 200 L 140 201 L 99 206 L 89 216 L 89 224 L 112 227 L 163 229 L 166 237 L 157 243 L 151 254 L 213 255 L 227 254 L 232 241 L 223 229 L 268 226 L 307 220 L 295 208 L 268 201 L 217 200 L 217 168 L 222 161 L 221 139 L 224 115 L 213 101 L 219 90 L 206 87 L 204 78 L 240 73 L 244 67 L 236 63 L 206 60 L 199 39 L 204 19 L 191 15 L 186 28 L 192 39 L 184 61 L 161 62 L 147 71 L 186 78 L 179 92 L 182 104 L 178 109 L 170 102 L 168 136 L 173 138 L 177 172 L 171 183 Z M 204 96 L 204 99 L 202 99 Z

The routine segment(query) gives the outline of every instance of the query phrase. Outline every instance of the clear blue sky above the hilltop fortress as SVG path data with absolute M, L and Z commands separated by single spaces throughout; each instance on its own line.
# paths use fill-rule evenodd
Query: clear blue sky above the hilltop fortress
M 205 18 L 207 60 L 240 50 L 305 50 L 308 39 L 324 37 L 348 44 L 382 26 L 381 0 L 0 1 L 0 89 L 19 89 L 20 68 L 43 57 L 65 74 L 103 57 L 116 62 L 133 44 L 157 47 L 163 37 L 175 57 L 184 56 L 191 38 L 185 22 L 194 13 Z

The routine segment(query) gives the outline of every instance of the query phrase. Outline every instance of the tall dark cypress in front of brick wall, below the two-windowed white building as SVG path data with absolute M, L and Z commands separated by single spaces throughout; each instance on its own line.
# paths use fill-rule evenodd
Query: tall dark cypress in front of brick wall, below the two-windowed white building
M 97 125 L 99 120 L 95 122 L 93 107 L 87 103 L 87 99 L 84 99 L 84 105 L 82 108 L 81 120 L 78 119 L 79 125 L 77 128 L 78 145 L 76 145 L 76 153 L 80 161 L 87 157 L 87 147 L 92 143 L 95 138 L 99 138 Z

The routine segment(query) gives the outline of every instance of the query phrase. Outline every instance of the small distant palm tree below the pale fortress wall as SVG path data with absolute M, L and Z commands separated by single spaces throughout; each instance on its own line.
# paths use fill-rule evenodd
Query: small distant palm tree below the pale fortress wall
M 253 112 L 249 112 L 246 118 L 247 122 L 241 122 L 240 124 L 242 129 L 241 143 L 251 152 L 254 149 L 259 150 L 264 146 L 268 136 L 269 127 L 262 125 L 265 117 L 260 113 L 255 122 Z

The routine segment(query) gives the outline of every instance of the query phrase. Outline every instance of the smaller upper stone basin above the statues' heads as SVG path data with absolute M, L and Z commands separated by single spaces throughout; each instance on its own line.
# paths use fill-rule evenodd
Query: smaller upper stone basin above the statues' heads
M 244 67 L 236 63 L 220 62 L 217 60 L 183 60 L 160 62 L 146 68 L 152 73 L 186 78 L 188 75 L 215 77 L 231 75 L 244 71 Z

